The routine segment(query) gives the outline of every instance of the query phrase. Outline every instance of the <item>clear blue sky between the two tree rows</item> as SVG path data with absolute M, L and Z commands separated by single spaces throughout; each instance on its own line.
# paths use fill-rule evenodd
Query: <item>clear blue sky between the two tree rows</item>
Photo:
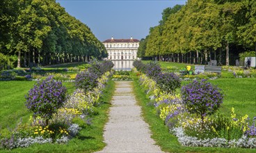
M 157 26 L 163 9 L 186 0 L 56 0 L 67 13 L 89 26 L 100 41 L 141 40 Z

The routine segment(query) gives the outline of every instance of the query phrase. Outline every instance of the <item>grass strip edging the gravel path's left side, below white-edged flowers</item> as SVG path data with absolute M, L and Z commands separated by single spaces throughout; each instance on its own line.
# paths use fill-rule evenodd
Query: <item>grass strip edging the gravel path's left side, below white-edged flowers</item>
M 102 150 L 106 145 L 103 140 L 104 124 L 108 121 L 109 107 L 111 106 L 111 98 L 115 90 L 115 83 L 109 81 L 104 89 L 100 101 L 102 104 L 95 109 L 93 115 L 93 124 L 84 128 L 79 135 L 72 138 L 66 145 L 44 144 L 31 145 L 27 148 L 17 148 L 12 152 L 95 152 Z M 0 150 L 0 152 L 10 152 L 8 150 Z

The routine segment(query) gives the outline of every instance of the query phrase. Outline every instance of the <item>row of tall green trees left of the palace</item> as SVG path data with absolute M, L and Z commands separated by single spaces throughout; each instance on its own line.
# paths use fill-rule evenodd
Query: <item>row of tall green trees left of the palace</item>
M 0 51 L 16 55 L 17 67 L 107 56 L 90 28 L 55 0 L 3 0 L 0 14 Z

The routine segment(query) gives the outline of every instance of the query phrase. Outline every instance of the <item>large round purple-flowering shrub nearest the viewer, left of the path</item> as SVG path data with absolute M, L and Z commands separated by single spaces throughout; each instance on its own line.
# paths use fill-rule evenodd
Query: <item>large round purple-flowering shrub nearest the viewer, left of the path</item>
M 52 115 L 63 106 L 66 99 L 67 89 L 61 82 L 55 81 L 52 77 L 38 82 L 34 88 L 29 90 L 25 96 L 26 107 L 33 111 L 34 116 L 40 116 L 46 120 L 51 119 Z

